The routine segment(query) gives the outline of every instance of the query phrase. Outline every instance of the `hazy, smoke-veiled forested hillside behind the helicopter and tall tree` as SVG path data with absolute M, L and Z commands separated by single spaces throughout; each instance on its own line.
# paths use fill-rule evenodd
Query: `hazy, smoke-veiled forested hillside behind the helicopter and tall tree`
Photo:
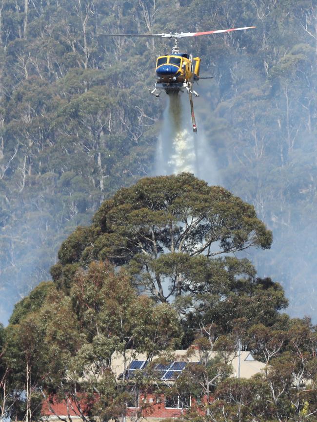
M 272 252 L 254 257 L 260 273 L 284 283 L 293 312 L 314 312 L 314 0 L 1 0 L 2 320 L 103 199 L 152 172 L 165 104 L 148 88 L 171 46 L 96 34 L 247 25 L 257 29 L 182 42 L 214 76 L 199 86 L 198 121 L 223 185 L 274 231 Z

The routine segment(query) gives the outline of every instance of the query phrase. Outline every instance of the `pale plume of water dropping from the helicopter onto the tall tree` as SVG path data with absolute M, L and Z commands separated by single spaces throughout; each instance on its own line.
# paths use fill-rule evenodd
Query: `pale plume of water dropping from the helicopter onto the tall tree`
M 198 101 L 202 99 L 198 98 L 194 106 Z M 158 137 L 157 176 L 189 172 L 209 184 L 220 183 L 212 146 L 206 139 L 203 122 L 197 112 L 196 123 L 198 132 L 194 133 L 188 95 L 169 94 Z

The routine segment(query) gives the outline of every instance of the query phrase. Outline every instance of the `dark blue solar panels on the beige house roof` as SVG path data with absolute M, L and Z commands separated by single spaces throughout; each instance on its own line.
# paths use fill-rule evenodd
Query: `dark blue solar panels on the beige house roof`
M 124 373 L 124 378 L 133 378 L 137 370 L 143 370 L 147 361 L 132 361 L 128 369 Z M 186 367 L 187 362 L 174 361 L 170 364 L 158 364 L 154 367 L 154 371 L 157 372 L 158 378 L 162 381 L 175 381 Z M 120 375 L 123 378 L 123 374 Z

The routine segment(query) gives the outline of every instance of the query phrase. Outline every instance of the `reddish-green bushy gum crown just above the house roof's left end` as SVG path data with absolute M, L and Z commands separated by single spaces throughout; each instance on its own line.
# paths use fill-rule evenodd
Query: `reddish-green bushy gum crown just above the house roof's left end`
M 109 360 L 114 351 L 127 347 L 153 354 L 173 347 L 169 339 L 180 336 L 171 306 L 154 306 L 149 297 L 138 296 L 127 275 L 115 275 L 104 264 L 92 263 L 87 274 L 79 271 L 70 297 L 86 332 L 93 338 L 104 333 L 113 345 L 103 351 Z

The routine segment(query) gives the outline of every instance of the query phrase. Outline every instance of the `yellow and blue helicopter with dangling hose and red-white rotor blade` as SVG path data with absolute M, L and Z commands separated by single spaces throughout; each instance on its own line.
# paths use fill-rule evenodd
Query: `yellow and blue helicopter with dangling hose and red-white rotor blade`
M 172 48 L 170 55 L 160 55 L 156 61 L 157 81 L 154 89 L 149 89 L 150 93 L 159 97 L 161 90 L 167 94 L 184 92 L 186 90 L 189 94 L 189 102 L 191 108 L 193 132 L 197 133 L 196 119 L 194 113 L 193 94 L 199 96 L 193 88 L 194 82 L 200 79 L 212 79 L 212 76 L 199 76 L 200 58 L 193 57 L 187 53 L 179 53 L 178 38 L 184 37 L 198 37 L 200 35 L 220 34 L 232 31 L 244 31 L 253 29 L 256 26 L 245 26 L 243 28 L 218 29 L 205 32 L 180 32 L 172 34 L 97 34 L 97 36 L 106 37 L 161 37 L 168 39 L 175 39 L 175 45 Z

